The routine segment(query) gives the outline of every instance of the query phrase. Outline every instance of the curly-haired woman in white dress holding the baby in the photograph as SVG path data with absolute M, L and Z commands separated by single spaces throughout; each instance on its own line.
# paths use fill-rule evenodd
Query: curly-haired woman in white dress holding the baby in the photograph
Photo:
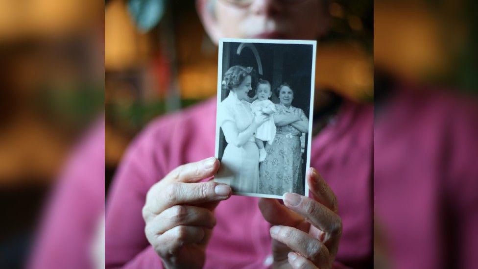
M 258 126 L 269 119 L 254 116 L 246 101 L 251 88 L 252 68 L 233 66 L 224 74 L 222 85 L 229 95 L 218 107 L 218 124 L 227 146 L 216 181 L 229 184 L 234 192 L 256 193 L 259 181 L 259 148 L 254 139 Z

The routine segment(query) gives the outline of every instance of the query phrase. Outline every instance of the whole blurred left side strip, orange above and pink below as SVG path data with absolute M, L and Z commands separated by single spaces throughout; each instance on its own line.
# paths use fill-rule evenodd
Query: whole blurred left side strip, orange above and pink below
M 0 17 L 0 268 L 102 268 L 103 2 L 1 1 Z

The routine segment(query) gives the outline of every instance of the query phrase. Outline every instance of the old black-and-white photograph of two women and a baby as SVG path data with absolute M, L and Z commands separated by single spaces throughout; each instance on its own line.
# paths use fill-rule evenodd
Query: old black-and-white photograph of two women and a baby
M 309 193 L 316 41 L 221 39 L 215 181 L 235 195 Z

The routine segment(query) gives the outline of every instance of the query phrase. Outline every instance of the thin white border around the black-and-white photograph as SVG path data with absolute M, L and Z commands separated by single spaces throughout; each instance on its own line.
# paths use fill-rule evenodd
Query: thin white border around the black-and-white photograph
M 317 49 L 317 41 L 315 40 L 281 40 L 281 39 L 240 39 L 240 38 L 221 38 L 219 39 L 219 55 L 217 57 L 217 103 L 216 107 L 219 107 L 221 103 L 221 94 L 222 94 L 222 50 L 224 42 L 237 42 L 237 43 L 267 43 L 267 44 L 294 44 L 294 45 L 312 45 L 312 67 L 311 67 L 311 100 L 310 100 L 310 109 L 309 109 L 309 135 L 307 143 L 307 162 L 306 162 L 306 172 L 303 175 L 305 181 L 305 192 L 304 196 L 309 196 L 309 183 L 307 182 L 307 170 L 311 167 L 311 143 L 312 143 L 312 119 L 313 119 L 313 101 L 314 101 L 314 91 L 315 91 L 315 52 Z M 216 137 L 215 137 L 215 157 L 219 158 L 219 133 L 220 126 L 216 112 Z M 256 193 L 233 193 L 233 195 L 239 196 L 252 196 L 252 197 L 263 197 L 263 198 L 277 198 L 282 199 L 283 196 L 279 195 L 269 195 L 269 194 L 256 194 Z

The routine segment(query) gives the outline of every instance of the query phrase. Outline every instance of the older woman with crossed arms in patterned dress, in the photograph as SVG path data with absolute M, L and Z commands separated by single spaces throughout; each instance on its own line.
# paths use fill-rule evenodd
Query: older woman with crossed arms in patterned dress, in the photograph
M 272 145 L 265 146 L 267 157 L 260 168 L 259 192 L 304 195 L 300 137 L 308 132 L 309 119 L 302 109 L 291 105 L 294 91 L 287 83 L 279 85 L 276 94 L 280 100 L 273 116 L 277 133 Z

